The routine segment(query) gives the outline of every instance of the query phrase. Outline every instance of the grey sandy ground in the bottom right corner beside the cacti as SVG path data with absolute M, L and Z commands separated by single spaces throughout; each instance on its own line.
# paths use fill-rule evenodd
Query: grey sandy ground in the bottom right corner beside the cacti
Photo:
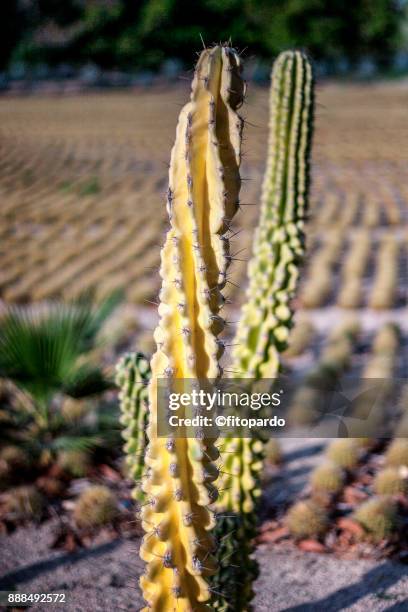
M 408 610 L 408 567 L 261 547 L 256 612 Z

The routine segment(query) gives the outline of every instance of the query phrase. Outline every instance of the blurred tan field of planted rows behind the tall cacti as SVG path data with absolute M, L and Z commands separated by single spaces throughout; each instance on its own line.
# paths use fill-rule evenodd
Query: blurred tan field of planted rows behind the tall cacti
M 158 291 L 167 163 L 183 88 L 86 98 L 0 100 L 0 298 Z M 299 300 L 307 309 L 406 305 L 408 188 L 401 85 L 317 89 L 311 227 Z M 386 110 L 385 110 L 386 109 Z M 266 155 L 267 90 L 249 87 L 243 115 L 237 261 L 245 280 Z M 246 249 L 246 251 L 245 251 Z M 239 295 L 238 295 L 239 294 Z

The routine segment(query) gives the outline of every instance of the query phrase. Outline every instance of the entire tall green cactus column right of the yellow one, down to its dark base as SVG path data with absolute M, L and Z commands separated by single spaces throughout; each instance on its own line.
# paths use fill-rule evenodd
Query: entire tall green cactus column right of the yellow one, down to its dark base
M 305 251 L 303 227 L 308 211 L 314 107 L 312 67 L 303 53 L 288 51 L 277 58 L 270 104 L 268 160 L 248 268 L 248 300 L 234 340 L 232 370 L 240 378 L 276 377 L 279 352 L 286 348 L 292 325 L 291 299 Z M 254 510 L 261 494 L 263 449 L 264 443 L 258 439 L 222 441 L 224 475 L 217 506 L 240 518 L 235 535 L 231 535 L 236 540 L 235 552 L 228 552 L 215 577 L 220 591 L 223 585 L 235 583 L 235 589 L 229 590 L 234 599 L 221 598 L 218 609 L 246 610 L 251 599 L 248 583 L 256 576 L 256 569 L 247 556 L 251 550 L 248 542 L 254 535 Z M 220 541 L 222 529 L 220 522 Z M 231 542 L 228 546 L 231 548 Z

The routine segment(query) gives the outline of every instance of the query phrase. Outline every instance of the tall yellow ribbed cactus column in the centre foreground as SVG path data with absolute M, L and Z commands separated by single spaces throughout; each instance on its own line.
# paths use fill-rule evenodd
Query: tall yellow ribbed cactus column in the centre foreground
M 223 352 L 217 334 L 221 289 L 230 263 L 226 232 L 238 207 L 244 85 L 239 56 L 228 47 L 202 52 L 190 102 L 180 113 L 171 155 L 170 229 L 161 252 L 157 351 L 151 361 L 150 416 L 142 507 L 146 532 L 141 578 L 146 609 L 208 609 L 214 573 L 213 512 L 218 476 L 214 441 L 157 435 L 158 379 L 213 379 Z

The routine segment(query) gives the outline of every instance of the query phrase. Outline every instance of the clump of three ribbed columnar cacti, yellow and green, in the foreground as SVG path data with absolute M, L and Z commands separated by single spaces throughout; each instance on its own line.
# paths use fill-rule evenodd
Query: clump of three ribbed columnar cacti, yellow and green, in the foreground
M 141 586 L 148 609 L 243 611 L 250 608 L 257 567 L 251 555 L 264 441 L 161 438 L 158 380 L 217 379 L 224 343 L 217 338 L 232 260 L 228 232 L 239 206 L 243 102 L 241 62 L 234 49 L 202 52 L 190 102 L 173 148 L 161 252 L 160 322 L 151 372 L 127 357 L 118 368 L 122 423 L 133 478 L 143 473 Z M 249 265 L 248 302 L 234 345 L 240 378 L 274 378 L 292 326 L 291 300 L 305 251 L 313 75 L 301 52 L 279 56 L 272 73 L 267 170 L 259 227 Z M 149 413 L 144 385 L 150 378 Z M 142 398 L 143 396 L 143 398 Z M 148 418 L 148 447 L 139 429 Z M 144 456 L 145 464 L 140 461 Z M 217 483 L 217 465 L 223 477 Z M 139 496 L 140 495 L 140 496 Z M 216 524 L 215 530 L 213 529 Z

